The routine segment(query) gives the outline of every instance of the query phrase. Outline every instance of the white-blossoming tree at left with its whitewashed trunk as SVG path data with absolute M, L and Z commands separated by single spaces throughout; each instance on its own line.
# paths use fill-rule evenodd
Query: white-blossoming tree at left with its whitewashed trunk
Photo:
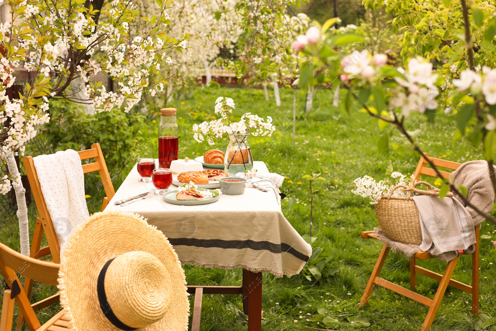
M 174 39 L 166 33 L 170 2 L 156 0 L 157 14 L 143 16 L 133 0 L 113 0 L 101 11 L 85 0 L 6 0 L 10 20 L 0 24 L 0 144 L 9 173 L 0 177 L 0 190 L 15 190 L 22 254 L 29 255 L 28 218 L 14 156 L 23 155 L 37 127 L 49 121 L 51 98 L 92 104 L 99 112 L 127 112 L 143 93 L 162 91 L 167 76 L 161 63 L 174 50 L 181 51 L 187 39 L 187 34 Z M 130 28 L 135 20 L 144 22 L 142 29 Z M 23 95 L 9 100 L 5 89 L 14 83 L 19 66 L 32 71 L 33 78 Z M 90 82 L 100 71 L 117 82 L 115 91 Z M 83 97 L 69 88 L 78 77 L 86 82 Z

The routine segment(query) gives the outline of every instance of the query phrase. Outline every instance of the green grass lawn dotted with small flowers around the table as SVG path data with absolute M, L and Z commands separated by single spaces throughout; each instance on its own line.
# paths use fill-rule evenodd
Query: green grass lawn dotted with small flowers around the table
M 355 178 L 366 174 L 382 178 L 390 166 L 404 174 L 413 173 L 419 156 L 408 145 L 394 139 L 397 144 L 393 146 L 390 155 L 380 157 L 376 147 L 376 141 L 381 135 L 377 121 L 358 110 L 348 115 L 340 107 L 333 107 L 332 94 L 329 90 L 318 90 L 312 114 L 305 120 L 302 115 L 305 95 L 298 91 L 299 115 L 293 145 L 292 90 L 281 91 L 282 106 L 277 108 L 272 93 L 270 100 L 265 101 L 263 91 L 257 89 L 194 89 L 190 97 L 169 104 L 178 108 L 179 156 L 191 158 L 202 155 L 209 149 L 206 143 L 199 144 L 193 140 L 191 125 L 214 116 L 215 99 L 218 96 L 229 96 L 236 103 L 234 116 L 252 112 L 273 117 L 276 133 L 267 138 L 251 137 L 249 142 L 255 160 L 264 161 L 271 172 L 287 178 L 281 188 L 287 194 L 282 202 L 282 211 L 301 235 L 308 233 L 310 218 L 308 182 L 302 176 L 320 172 L 326 178 L 325 182 L 316 184 L 319 191 L 314 197 L 313 236 L 317 240 L 313 246 L 321 247 L 329 254 L 328 266 L 337 271 L 320 281 L 309 281 L 303 275 L 278 279 L 264 274 L 263 330 L 312 330 L 307 327 L 326 330 L 322 323 L 311 322 L 313 316 L 318 314 L 317 309 L 321 313 L 325 310 L 326 316 L 338 321 L 328 328 L 331 330 L 356 330 L 353 327 L 357 323 L 350 321 L 360 318 L 367 319 L 370 323 L 363 330 L 420 330 L 428 308 L 391 291 L 376 288 L 369 305 L 365 309 L 358 308 L 381 244 L 376 240 L 361 239 L 361 231 L 372 230 L 378 223 L 373 206 L 366 199 L 350 193 Z M 150 108 L 153 109 L 153 106 Z M 419 140 L 424 151 L 431 156 L 457 162 L 483 158 L 482 151 L 474 149 L 467 140 L 452 141 L 451 135 L 455 128 L 453 119 L 440 115 L 436 123 L 429 124 L 420 116 L 417 122 L 412 122 L 413 129 L 421 129 Z M 143 149 L 143 154 L 157 157 L 158 123 L 153 121 L 159 121 L 159 118 L 155 115 L 150 120 L 149 127 L 142 130 L 149 142 L 146 149 Z M 399 135 L 396 134 L 396 137 L 399 138 Z M 224 149 L 226 145 L 222 141 L 216 147 Z M 135 160 L 129 160 L 127 168 L 114 180 L 116 190 L 134 162 Z M 96 191 L 87 194 L 92 196 L 88 199 L 90 212 L 98 211 L 102 197 Z M 36 208 L 33 203 L 30 206 L 31 231 L 35 218 Z M 496 240 L 495 233 L 495 226 L 492 224 L 485 222 L 482 225 L 481 235 L 489 235 L 491 239 L 481 239 L 480 302 L 481 311 L 491 316 L 496 316 L 496 249 L 492 245 L 492 241 Z M 0 240 L 14 249 L 19 248 L 16 220 L 2 221 Z M 419 264 L 441 273 L 445 267 L 445 263 L 437 260 Z M 192 265 L 184 265 L 184 268 L 190 284 L 241 284 L 241 270 L 209 269 Z M 382 270 L 385 278 L 409 287 L 409 263 L 400 255 L 389 254 Z M 470 270 L 471 258 L 462 257 L 453 278 L 470 283 Z M 433 297 L 436 288 L 437 282 L 418 276 L 419 293 Z M 35 288 L 34 296 L 41 299 L 54 291 L 54 288 L 40 285 Z M 46 321 L 54 310 L 42 311 L 40 316 Z M 246 319 L 241 311 L 240 296 L 205 295 L 201 330 L 246 330 Z M 448 287 L 432 330 L 480 330 L 476 328 L 476 324 L 477 320 L 471 316 L 470 296 Z

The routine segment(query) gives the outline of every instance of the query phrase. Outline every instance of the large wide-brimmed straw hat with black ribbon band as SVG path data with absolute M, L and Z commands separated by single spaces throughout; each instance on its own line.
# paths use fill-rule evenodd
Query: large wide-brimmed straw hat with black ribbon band
M 73 331 L 187 331 L 189 301 L 178 256 L 133 213 L 99 212 L 71 235 L 59 271 Z

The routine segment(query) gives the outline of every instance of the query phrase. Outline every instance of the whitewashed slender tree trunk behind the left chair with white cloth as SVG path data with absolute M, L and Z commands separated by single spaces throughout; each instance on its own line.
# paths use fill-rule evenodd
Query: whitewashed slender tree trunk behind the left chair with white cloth
M 17 178 L 20 176 L 19 169 L 17 168 L 17 163 L 15 163 L 15 158 L 13 153 L 9 153 L 6 156 L 7 167 L 10 174 Z M 28 224 L 28 207 L 26 205 L 26 189 L 20 185 L 14 185 L 12 187 L 15 191 L 15 198 L 17 199 L 17 218 L 19 219 L 19 238 L 21 243 L 21 254 L 29 256 L 29 224 Z

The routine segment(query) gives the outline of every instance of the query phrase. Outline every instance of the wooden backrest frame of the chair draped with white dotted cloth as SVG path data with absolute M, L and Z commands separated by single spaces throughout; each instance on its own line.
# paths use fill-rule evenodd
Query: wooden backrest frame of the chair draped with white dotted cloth
M 103 188 L 105 190 L 106 197 L 103 199 L 102 210 L 107 206 L 109 201 L 114 197 L 116 192 L 114 191 L 114 186 L 110 179 L 109 171 L 103 157 L 102 149 L 99 143 L 94 143 L 91 145 L 91 149 L 86 149 L 77 152 L 81 160 L 87 160 L 94 158 L 95 162 L 83 164 L 83 173 L 87 174 L 89 172 L 98 171 L 100 178 L 102 179 Z M 47 237 L 48 246 L 52 253 L 52 258 L 55 263 L 60 263 L 60 246 L 57 240 L 57 234 L 50 218 L 50 213 L 48 212 L 45 199 L 43 198 L 43 193 L 41 192 L 40 181 L 38 180 L 38 175 L 36 173 L 36 168 L 34 166 L 33 157 L 25 156 L 23 159 L 24 169 L 26 169 L 26 174 L 31 186 L 31 191 L 33 193 L 34 200 L 36 202 L 36 207 L 38 208 L 38 213 L 40 214 L 40 219 L 43 224 L 43 230 L 45 231 L 45 236 Z

